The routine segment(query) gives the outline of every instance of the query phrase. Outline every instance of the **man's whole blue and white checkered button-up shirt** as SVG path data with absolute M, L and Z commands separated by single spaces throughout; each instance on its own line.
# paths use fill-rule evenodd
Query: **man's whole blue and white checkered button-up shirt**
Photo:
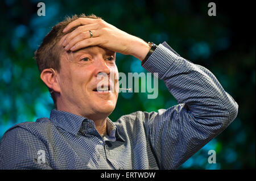
M 52 110 L 5 132 L 0 169 L 177 169 L 236 118 L 238 105 L 216 77 L 166 42 L 142 66 L 158 73 L 176 106 L 108 119 L 105 137 L 92 120 Z

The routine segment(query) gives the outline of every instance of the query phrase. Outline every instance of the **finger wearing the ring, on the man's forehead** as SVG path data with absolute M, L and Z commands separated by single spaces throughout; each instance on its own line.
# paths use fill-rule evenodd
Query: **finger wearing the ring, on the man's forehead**
M 92 37 L 98 37 L 100 36 L 100 30 L 92 30 Z M 69 43 L 65 46 L 65 50 L 69 50 L 70 48 L 73 47 L 76 43 L 79 41 L 85 40 L 85 39 L 90 39 L 90 32 L 89 31 L 84 31 L 81 32 L 79 35 L 75 36 Z

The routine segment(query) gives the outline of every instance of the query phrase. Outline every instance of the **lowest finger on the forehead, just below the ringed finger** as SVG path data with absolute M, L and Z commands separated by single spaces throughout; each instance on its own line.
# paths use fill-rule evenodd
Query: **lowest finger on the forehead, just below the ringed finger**
M 101 37 L 92 37 L 90 39 L 85 39 L 82 41 L 77 42 L 70 50 L 72 51 L 76 51 L 79 50 L 81 48 L 86 48 L 86 47 L 90 47 L 90 46 L 96 46 L 96 45 L 101 45 Z

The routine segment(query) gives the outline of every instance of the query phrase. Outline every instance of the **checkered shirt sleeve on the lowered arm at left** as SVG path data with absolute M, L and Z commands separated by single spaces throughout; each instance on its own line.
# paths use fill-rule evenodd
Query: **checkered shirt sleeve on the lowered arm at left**
M 51 169 L 46 145 L 27 129 L 15 126 L 0 143 L 0 170 Z

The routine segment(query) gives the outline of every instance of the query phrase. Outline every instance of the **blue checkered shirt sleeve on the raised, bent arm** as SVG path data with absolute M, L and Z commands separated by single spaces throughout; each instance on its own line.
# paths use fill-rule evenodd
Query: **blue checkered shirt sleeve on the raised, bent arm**
M 206 68 L 180 57 L 166 42 L 142 65 L 158 73 L 178 104 L 143 112 L 160 169 L 177 169 L 236 118 L 238 104 Z

